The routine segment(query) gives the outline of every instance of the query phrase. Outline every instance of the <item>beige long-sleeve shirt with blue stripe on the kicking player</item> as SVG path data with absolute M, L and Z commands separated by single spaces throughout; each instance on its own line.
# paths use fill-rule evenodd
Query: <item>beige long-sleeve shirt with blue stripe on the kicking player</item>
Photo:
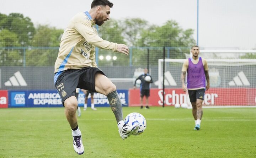
M 97 67 L 95 47 L 116 51 L 117 43 L 100 38 L 90 14 L 80 12 L 71 19 L 63 33 L 54 72 Z

